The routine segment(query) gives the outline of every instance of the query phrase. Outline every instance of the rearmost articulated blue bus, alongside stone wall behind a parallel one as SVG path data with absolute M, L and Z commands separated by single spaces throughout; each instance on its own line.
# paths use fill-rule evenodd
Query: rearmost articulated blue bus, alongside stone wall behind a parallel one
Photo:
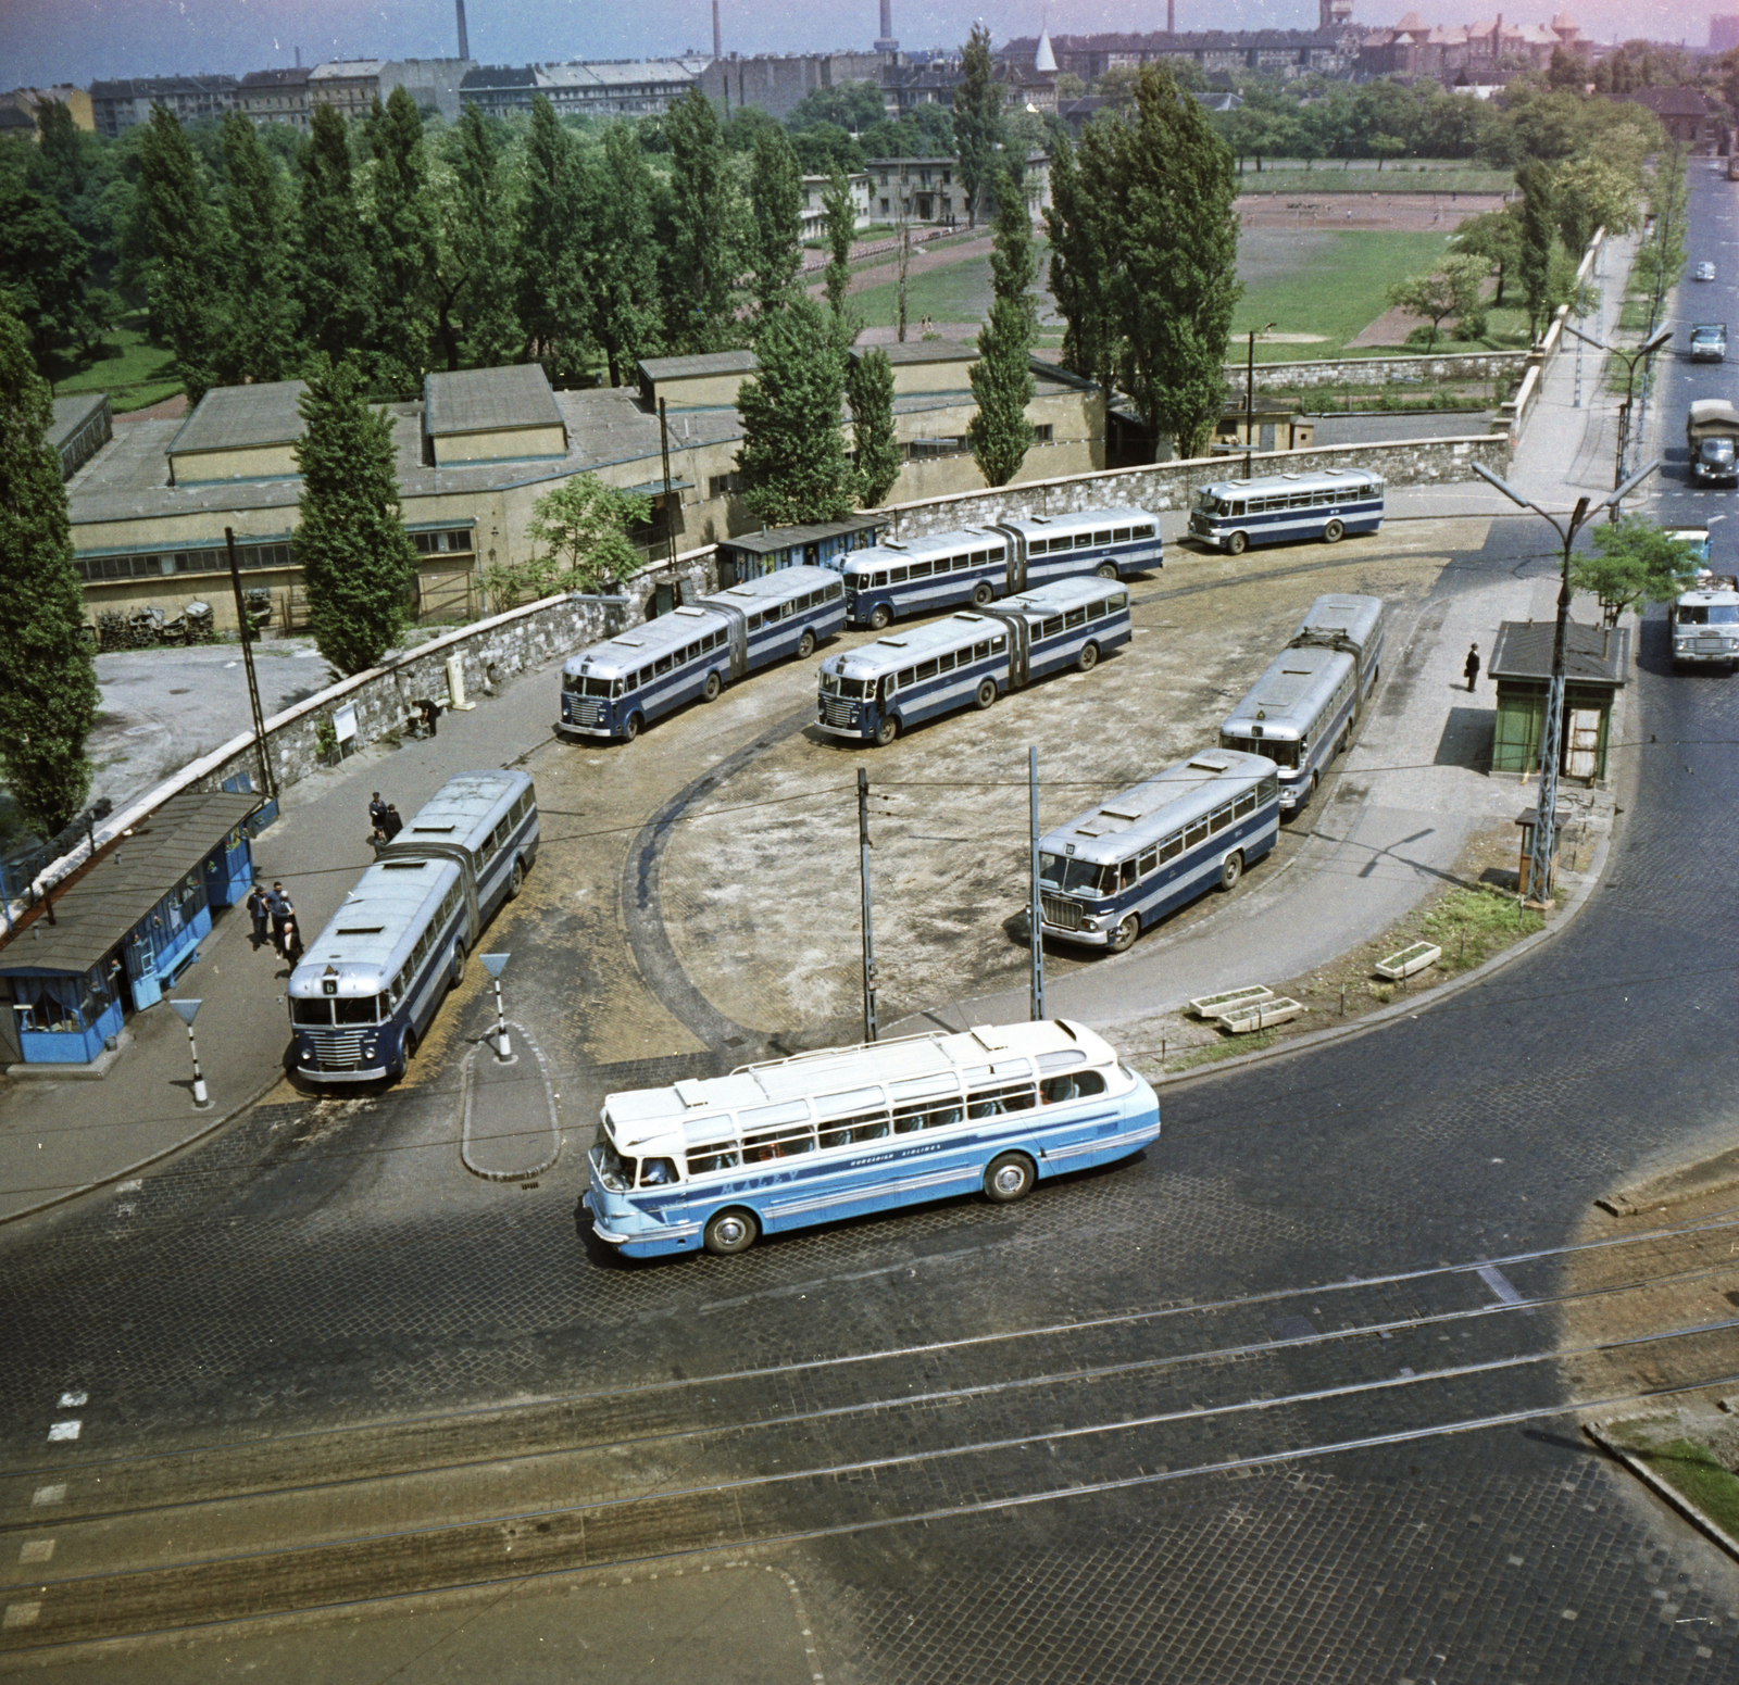
M 854 551 L 845 558 L 845 614 L 852 626 L 882 631 L 904 616 L 984 609 L 1078 574 L 1122 579 L 1151 567 L 1163 562 L 1160 527 L 1146 509 L 1038 515 Z

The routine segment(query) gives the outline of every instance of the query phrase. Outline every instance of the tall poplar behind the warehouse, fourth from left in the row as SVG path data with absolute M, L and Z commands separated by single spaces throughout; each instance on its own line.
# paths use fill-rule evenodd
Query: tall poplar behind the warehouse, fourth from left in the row
M 374 257 L 374 379 L 384 391 L 410 393 L 430 360 L 435 289 L 435 219 L 428 158 L 416 101 L 395 87 L 369 111 L 370 245 Z

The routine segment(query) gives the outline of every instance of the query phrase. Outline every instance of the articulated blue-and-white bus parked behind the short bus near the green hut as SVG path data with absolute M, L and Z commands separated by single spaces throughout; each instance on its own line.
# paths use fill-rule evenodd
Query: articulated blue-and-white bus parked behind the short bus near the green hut
M 1266 755 L 1280 769 L 1282 814 L 1309 802 L 1323 769 L 1353 741 L 1383 675 L 1386 621 L 1381 596 L 1318 596 L 1223 722 L 1223 748 Z

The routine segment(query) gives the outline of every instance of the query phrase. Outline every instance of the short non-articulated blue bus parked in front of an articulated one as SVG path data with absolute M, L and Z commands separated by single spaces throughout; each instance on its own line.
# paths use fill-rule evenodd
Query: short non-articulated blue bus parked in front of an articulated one
M 1043 934 L 1123 953 L 1167 913 L 1231 889 L 1278 836 L 1275 763 L 1205 749 L 1040 838 Z

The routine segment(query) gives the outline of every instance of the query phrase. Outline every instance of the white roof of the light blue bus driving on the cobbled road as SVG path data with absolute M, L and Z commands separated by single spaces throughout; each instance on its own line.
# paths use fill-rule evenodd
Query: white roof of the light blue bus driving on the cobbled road
M 1064 1050 L 1085 1054 L 1089 1064 L 1109 1064 L 1116 1059 L 1108 1042 L 1066 1019 L 986 1024 L 955 1035 L 828 1047 L 770 1064 L 741 1066 L 729 1076 L 678 1082 L 668 1089 L 628 1089 L 605 1096 L 603 1108 L 623 1151 L 675 1155 L 689 1144 L 720 1139 L 722 1125 L 729 1130 L 737 1113 L 762 1106 L 795 1108 L 809 1099 L 840 1096 L 856 1097 L 863 1109 L 870 1109 L 913 1097 L 899 1094 L 896 1085 L 967 1075 L 977 1082 L 1005 1075 L 1029 1076 L 1031 1061 Z M 944 1089 L 936 1087 L 932 1092 L 941 1094 Z M 795 1113 L 791 1120 L 796 1120 Z M 756 1122 L 762 1120 L 750 1120 L 748 1127 L 753 1129 Z

